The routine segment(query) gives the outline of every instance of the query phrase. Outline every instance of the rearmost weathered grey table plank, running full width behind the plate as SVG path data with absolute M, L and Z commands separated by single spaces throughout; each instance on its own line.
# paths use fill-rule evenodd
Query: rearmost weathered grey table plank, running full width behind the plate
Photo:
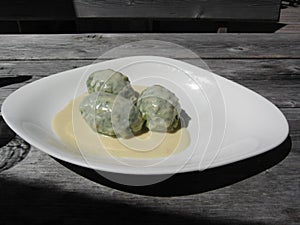
M 96 59 L 130 55 L 204 59 L 300 58 L 298 34 L 3 35 L 0 43 L 0 60 Z M 107 53 L 120 45 L 123 46 L 118 50 Z

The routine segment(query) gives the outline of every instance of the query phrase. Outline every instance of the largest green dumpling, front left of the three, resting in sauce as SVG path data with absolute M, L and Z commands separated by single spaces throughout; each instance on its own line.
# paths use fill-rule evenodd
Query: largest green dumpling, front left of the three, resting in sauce
M 144 124 L 141 113 L 129 99 L 105 92 L 85 97 L 80 112 L 94 131 L 110 136 L 132 137 Z

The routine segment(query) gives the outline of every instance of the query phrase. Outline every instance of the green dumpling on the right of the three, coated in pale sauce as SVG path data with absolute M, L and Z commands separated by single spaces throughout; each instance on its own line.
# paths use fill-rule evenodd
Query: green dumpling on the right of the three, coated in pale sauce
M 145 89 L 137 106 L 152 131 L 174 131 L 179 125 L 181 111 L 178 98 L 168 89 L 154 85 Z

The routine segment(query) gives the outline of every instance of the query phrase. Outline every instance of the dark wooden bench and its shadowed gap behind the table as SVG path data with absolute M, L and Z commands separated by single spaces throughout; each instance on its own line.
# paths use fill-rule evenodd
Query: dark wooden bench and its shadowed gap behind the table
M 1 33 L 273 32 L 280 0 L 0 1 Z

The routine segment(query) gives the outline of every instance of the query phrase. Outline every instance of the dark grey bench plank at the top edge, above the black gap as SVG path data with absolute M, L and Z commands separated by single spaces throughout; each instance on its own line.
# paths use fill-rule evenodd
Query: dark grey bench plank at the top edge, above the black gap
M 277 21 L 279 0 L 75 0 L 79 18 L 194 18 Z

